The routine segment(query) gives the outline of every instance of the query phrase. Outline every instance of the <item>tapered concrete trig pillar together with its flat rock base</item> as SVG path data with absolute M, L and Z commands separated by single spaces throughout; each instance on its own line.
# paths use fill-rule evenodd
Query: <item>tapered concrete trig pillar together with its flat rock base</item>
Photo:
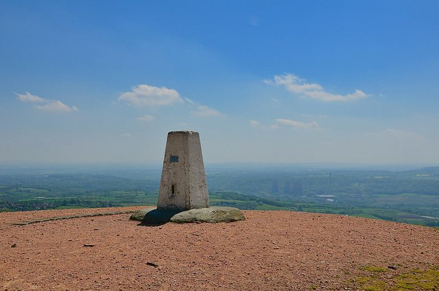
M 167 134 L 157 208 L 134 211 L 130 219 L 156 225 L 166 222 L 233 222 L 246 218 L 237 208 L 209 207 L 200 135 L 185 130 Z

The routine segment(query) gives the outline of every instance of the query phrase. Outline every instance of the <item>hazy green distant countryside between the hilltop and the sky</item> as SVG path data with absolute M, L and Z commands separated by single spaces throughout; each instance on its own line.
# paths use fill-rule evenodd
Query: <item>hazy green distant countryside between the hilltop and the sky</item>
M 0 168 L 0 211 L 156 205 L 161 168 Z M 439 226 L 439 167 L 206 167 L 211 206 L 332 213 Z

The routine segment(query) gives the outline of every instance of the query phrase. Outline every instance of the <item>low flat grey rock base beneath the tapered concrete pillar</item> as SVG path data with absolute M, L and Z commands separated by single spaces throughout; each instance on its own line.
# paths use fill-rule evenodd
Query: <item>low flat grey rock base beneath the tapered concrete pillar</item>
M 145 224 L 164 224 L 166 222 L 233 222 L 245 220 L 244 214 L 234 207 L 210 207 L 187 211 L 145 208 L 132 213 L 130 220 Z

